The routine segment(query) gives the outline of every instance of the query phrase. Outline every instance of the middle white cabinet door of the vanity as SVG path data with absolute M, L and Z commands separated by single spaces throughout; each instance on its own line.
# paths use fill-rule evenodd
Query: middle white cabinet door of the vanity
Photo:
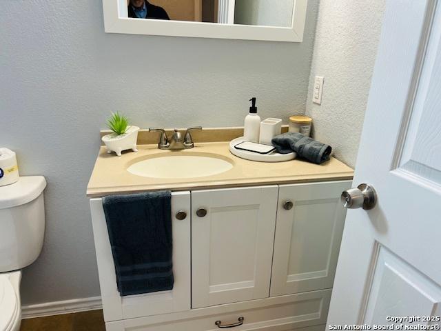
M 269 297 L 277 193 L 192 192 L 192 308 Z

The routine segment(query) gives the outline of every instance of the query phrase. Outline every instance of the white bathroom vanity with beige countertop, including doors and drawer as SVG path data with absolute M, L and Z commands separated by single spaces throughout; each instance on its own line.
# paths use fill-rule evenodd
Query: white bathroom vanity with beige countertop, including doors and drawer
M 122 157 L 101 148 L 88 185 L 107 331 L 324 330 L 345 222 L 340 193 L 353 170 L 334 158 L 246 161 L 229 153 L 228 142 L 183 152 L 156 147 Z M 232 167 L 185 178 L 127 171 L 181 156 Z M 178 161 L 170 161 L 176 170 Z M 172 191 L 174 289 L 120 297 L 101 197 L 149 190 Z

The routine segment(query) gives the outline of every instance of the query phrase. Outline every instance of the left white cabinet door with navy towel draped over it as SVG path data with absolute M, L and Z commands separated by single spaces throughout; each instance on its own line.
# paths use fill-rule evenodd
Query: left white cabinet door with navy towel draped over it
M 190 309 L 190 192 L 172 193 L 174 287 L 171 291 L 120 297 L 101 198 L 90 199 L 104 320 L 117 321 Z M 176 212 L 187 212 L 176 219 Z

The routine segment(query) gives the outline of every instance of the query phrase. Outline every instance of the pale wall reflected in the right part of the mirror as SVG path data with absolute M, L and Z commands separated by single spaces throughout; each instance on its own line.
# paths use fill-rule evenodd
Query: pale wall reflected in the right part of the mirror
M 291 26 L 294 0 L 240 0 L 234 23 L 249 26 Z

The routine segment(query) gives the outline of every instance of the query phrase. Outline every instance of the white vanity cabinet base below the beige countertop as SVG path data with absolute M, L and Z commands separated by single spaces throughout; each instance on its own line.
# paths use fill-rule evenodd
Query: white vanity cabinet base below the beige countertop
M 116 289 L 102 200 L 91 199 L 107 331 L 214 331 L 242 318 L 232 330 L 325 330 L 349 187 L 172 192 L 174 289 L 129 297 Z

